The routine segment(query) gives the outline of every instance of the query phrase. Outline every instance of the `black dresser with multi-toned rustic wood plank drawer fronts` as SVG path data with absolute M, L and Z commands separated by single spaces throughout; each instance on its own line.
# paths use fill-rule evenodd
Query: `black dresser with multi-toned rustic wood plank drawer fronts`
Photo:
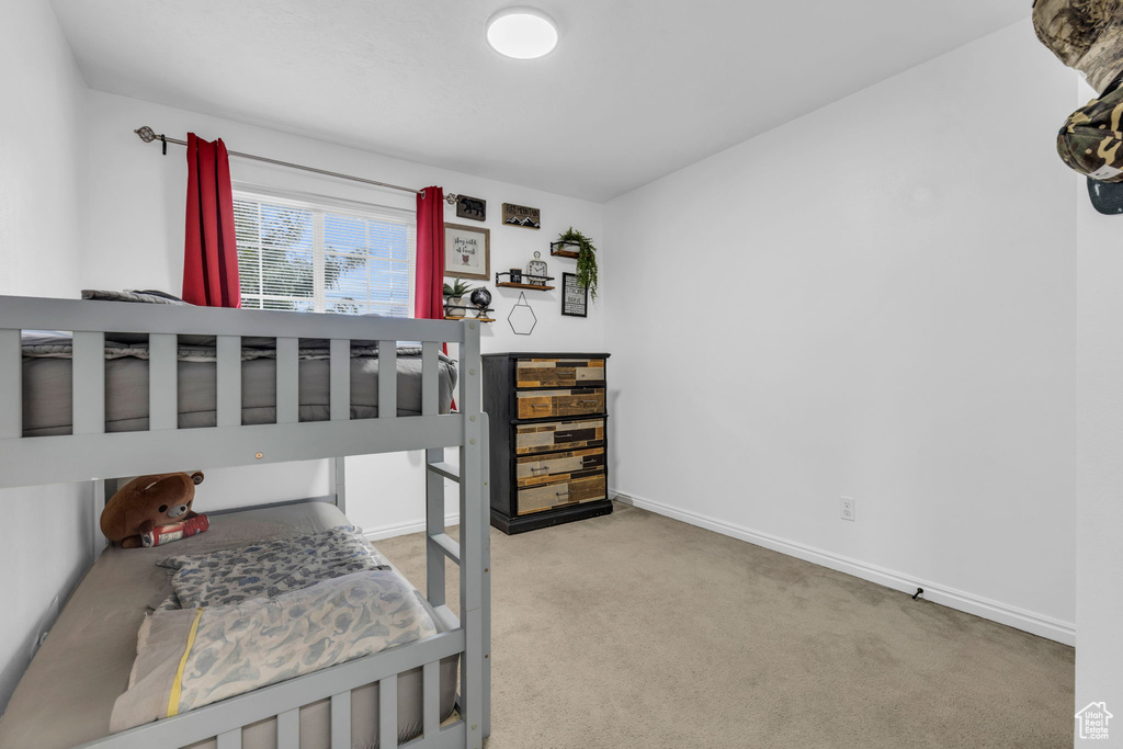
M 492 524 L 504 533 L 612 512 L 608 354 L 485 354 Z

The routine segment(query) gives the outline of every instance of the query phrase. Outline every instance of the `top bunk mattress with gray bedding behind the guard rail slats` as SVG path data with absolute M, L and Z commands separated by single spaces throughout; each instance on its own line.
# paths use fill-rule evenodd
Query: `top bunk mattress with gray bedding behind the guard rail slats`
M 112 339 L 110 339 L 112 336 Z M 22 342 L 24 436 L 70 435 L 73 423 L 72 340 L 64 334 L 25 331 Z M 217 367 L 212 337 L 181 336 L 177 366 L 179 428 L 217 423 Z M 274 339 L 243 340 L 241 423 L 276 421 Z M 421 347 L 399 346 L 398 415 L 421 414 Z M 329 344 L 302 339 L 299 364 L 300 420 L 330 417 Z M 456 364 L 439 357 L 440 413 L 448 413 L 456 386 Z M 378 349 L 375 341 L 351 341 L 353 419 L 378 415 Z M 148 429 L 148 347 L 146 336 L 108 334 L 106 340 L 106 431 Z

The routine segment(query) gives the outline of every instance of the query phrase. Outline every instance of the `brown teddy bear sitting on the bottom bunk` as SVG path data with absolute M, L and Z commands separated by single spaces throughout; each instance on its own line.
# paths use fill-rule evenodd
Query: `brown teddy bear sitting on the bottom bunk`
M 203 532 L 209 527 L 207 515 L 191 511 L 195 484 L 202 479 L 201 471 L 134 478 L 106 502 L 101 532 L 126 549 L 158 546 Z

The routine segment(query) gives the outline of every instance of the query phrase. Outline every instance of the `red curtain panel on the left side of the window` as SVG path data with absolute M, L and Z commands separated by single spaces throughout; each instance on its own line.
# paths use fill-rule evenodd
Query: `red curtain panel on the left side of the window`
M 221 139 L 209 143 L 194 133 L 188 134 L 183 301 L 204 307 L 241 307 L 230 157 Z

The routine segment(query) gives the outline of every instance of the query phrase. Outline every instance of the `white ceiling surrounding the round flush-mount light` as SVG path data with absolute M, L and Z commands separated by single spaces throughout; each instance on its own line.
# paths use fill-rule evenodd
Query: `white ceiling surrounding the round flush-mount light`
M 520 3 L 558 21 L 547 57 L 487 46 L 487 17 Z M 94 89 L 594 201 L 1030 13 L 1028 0 L 53 4 Z

